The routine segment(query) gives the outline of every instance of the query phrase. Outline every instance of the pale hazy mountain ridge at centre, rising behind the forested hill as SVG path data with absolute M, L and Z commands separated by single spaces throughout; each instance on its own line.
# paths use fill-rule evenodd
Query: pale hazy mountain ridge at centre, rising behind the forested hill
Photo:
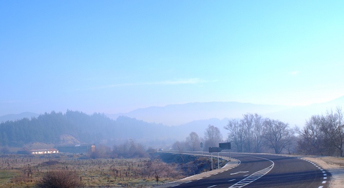
M 194 102 L 165 107 L 148 107 L 128 113 L 106 115 L 112 119 L 122 115 L 167 126 L 179 126 L 194 120 L 241 118 L 246 113 L 267 114 L 288 108 L 290 107 L 240 102 Z

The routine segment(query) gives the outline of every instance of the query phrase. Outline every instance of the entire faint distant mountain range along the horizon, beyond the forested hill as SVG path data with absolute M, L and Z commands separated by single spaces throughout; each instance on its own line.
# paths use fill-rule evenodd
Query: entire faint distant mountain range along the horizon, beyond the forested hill
M 292 127 L 294 125 L 303 127 L 306 120 L 312 115 L 324 114 L 327 110 L 335 110 L 336 107 L 344 107 L 344 96 L 329 102 L 309 106 L 256 105 L 241 102 L 195 102 L 182 105 L 167 105 L 165 107 L 148 107 L 133 110 L 128 113 L 105 115 L 113 120 L 116 120 L 120 116 L 126 116 L 149 123 L 163 124 L 166 126 L 182 126 L 185 129 L 190 128 L 190 130 L 194 131 L 195 129 L 193 127 L 196 124 L 203 127 L 206 127 L 208 124 L 213 124 L 222 129 L 228 119 L 241 118 L 246 113 L 257 113 L 263 117 L 279 119 L 289 123 Z M 24 117 L 30 119 L 31 117 L 38 116 L 39 114 L 30 112 L 8 114 L 0 116 L 0 122 L 18 120 Z

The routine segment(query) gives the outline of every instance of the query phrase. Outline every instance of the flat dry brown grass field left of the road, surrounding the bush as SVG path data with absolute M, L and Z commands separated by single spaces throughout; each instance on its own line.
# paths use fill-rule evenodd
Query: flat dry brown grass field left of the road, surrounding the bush
M 85 187 L 148 187 L 156 184 L 155 174 L 147 173 L 165 163 L 150 159 L 87 159 L 80 155 L 3 155 L 0 157 L 0 188 L 33 187 L 51 171 L 74 171 Z M 181 178 L 161 173 L 159 183 Z

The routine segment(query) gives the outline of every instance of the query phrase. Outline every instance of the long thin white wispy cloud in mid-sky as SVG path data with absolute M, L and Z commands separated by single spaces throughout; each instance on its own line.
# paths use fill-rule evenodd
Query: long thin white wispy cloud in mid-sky
M 200 78 L 188 78 L 188 79 L 175 79 L 175 80 L 164 80 L 164 81 L 156 81 L 156 82 L 135 82 L 135 83 L 118 83 L 114 85 L 107 85 L 101 86 L 97 88 L 90 88 L 90 89 L 106 89 L 106 88 L 116 88 L 116 87 L 125 87 L 125 86 L 152 86 L 152 85 L 161 85 L 161 86 L 168 86 L 168 85 L 194 85 L 198 83 L 206 83 L 206 82 L 215 82 L 217 80 L 203 80 Z

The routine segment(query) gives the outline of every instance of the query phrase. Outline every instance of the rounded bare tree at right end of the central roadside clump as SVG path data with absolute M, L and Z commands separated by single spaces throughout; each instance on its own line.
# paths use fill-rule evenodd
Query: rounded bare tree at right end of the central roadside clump
M 288 128 L 288 123 L 279 120 L 266 119 L 264 121 L 265 144 L 267 147 L 274 149 L 275 153 L 281 153 L 288 144 L 290 144 L 293 130 Z

